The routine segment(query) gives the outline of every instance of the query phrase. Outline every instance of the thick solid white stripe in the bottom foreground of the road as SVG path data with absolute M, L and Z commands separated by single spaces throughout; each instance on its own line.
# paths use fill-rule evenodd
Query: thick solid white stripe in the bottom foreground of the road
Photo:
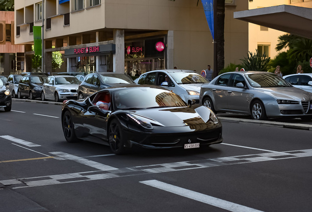
M 202 203 L 206 203 L 208 205 L 212 205 L 214 207 L 218 207 L 218 208 L 228 210 L 231 212 L 260 212 L 256 209 L 238 205 L 236 203 L 232 203 L 226 200 L 208 196 L 206 194 L 188 190 L 188 189 L 178 187 L 175 185 L 166 184 L 157 180 L 141 181 L 140 183 L 145 184 L 145 185 L 150 185 L 158 189 L 165 190 L 174 194 L 178 194 L 180 196 L 193 199 Z

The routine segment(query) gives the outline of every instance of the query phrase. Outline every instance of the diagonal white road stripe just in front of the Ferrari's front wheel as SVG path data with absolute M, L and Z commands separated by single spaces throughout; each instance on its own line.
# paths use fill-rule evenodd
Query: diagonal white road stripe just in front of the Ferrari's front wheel
M 52 155 L 56 155 L 58 157 L 60 157 L 61 159 L 69 159 L 69 160 L 74 160 L 78 163 L 102 170 L 102 171 L 108 171 L 108 170 L 116 170 L 118 168 L 112 167 L 112 166 L 108 166 L 108 165 L 104 165 L 102 163 L 99 162 L 95 162 L 92 160 L 88 160 L 88 159 L 84 159 L 84 158 L 80 158 L 78 156 L 73 156 L 67 153 L 63 153 L 63 152 L 51 152 L 50 154 Z

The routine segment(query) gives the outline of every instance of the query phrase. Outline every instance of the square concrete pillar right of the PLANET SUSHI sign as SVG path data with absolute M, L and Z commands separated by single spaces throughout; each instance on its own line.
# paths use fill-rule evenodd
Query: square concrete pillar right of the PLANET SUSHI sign
M 125 31 L 123 29 L 114 29 L 114 44 L 116 53 L 113 54 L 113 72 L 125 73 Z

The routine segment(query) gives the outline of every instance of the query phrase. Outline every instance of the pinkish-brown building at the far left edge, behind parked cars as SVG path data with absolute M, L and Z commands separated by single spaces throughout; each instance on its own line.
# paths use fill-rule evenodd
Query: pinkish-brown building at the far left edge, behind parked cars
M 19 74 L 24 69 L 24 45 L 14 45 L 13 11 L 0 11 L 0 28 L 0 75 Z

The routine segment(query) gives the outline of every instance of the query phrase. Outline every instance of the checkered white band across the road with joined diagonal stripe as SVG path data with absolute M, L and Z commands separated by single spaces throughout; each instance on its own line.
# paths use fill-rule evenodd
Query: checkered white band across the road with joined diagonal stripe
M 109 178 L 119 178 L 125 176 L 134 176 L 141 174 L 149 173 L 165 173 L 173 171 L 183 171 L 190 169 L 199 169 L 199 168 L 209 168 L 223 165 L 234 165 L 234 164 L 244 164 L 252 162 L 262 162 L 270 160 L 280 160 L 280 159 L 296 159 L 296 158 L 305 158 L 312 157 L 312 149 L 306 150 L 294 150 L 294 151 L 285 151 L 285 152 L 268 152 L 268 153 L 259 153 L 253 155 L 241 155 L 241 156 L 232 156 L 232 157 L 223 157 L 215 159 L 202 159 L 194 161 L 181 161 L 173 163 L 161 163 L 154 165 L 144 165 L 144 166 L 134 166 L 126 168 L 113 168 L 111 166 L 106 166 L 101 163 L 90 161 L 87 159 L 82 159 L 76 156 L 72 156 L 66 153 L 56 152 L 50 153 L 55 154 L 59 159 L 72 159 L 79 163 L 92 166 L 94 168 L 100 169 L 96 171 L 88 172 L 78 172 L 78 173 L 69 173 L 69 174 L 59 174 L 59 175 L 48 175 L 32 178 L 22 178 L 22 179 L 11 179 L 11 180 L 2 180 L 0 184 L 10 185 L 13 189 L 17 188 L 26 188 L 34 186 L 43 186 L 43 185 L 59 185 L 66 183 L 77 183 L 84 181 L 93 181 L 93 180 L 103 180 Z M 57 157 L 55 158 L 57 159 Z M 111 169 L 109 168 L 111 167 Z

